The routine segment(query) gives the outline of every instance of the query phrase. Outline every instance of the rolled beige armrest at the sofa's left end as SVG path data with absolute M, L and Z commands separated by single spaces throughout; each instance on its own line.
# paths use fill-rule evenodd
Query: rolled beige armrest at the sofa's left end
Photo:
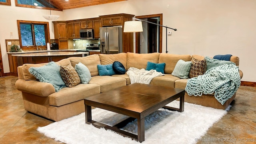
M 55 92 L 54 86 L 46 82 L 39 82 L 36 80 L 23 80 L 18 79 L 15 86 L 22 92 L 35 94 L 37 96 L 49 96 Z

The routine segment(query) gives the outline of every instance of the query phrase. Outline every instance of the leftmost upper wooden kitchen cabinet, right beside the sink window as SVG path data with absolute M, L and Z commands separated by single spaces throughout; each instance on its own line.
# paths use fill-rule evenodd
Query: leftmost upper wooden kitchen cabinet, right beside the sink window
M 54 38 L 55 39 L 57 39 L 57 40 L 68 39 L 66 22 L 55 21 L 55 22 L 53 22 L 53 25 L 54 25 Z

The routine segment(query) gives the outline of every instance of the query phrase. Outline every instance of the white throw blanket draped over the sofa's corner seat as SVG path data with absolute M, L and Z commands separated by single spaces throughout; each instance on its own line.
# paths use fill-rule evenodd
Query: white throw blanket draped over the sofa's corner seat
M 141 84 L 150 84 L 151 80 L 157 76 L 164 76 L 161 72 L 156 70 L 145 70 L 144 68 L 129 68 L 127 70 L 127 75 L 130 78 L 131 84 L 141 83 Z

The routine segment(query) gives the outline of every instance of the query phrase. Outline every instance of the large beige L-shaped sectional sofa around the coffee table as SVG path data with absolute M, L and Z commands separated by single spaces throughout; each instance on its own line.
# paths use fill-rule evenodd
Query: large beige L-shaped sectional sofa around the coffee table
M 18 80 L 15 85 L 22 92 L 25 110 L 50 120 L 60 121 L 84 112 L 84 98 L 130 84 L 127 74 L 99 76 L 98 64 L 106 65 L 112 64 L 114 61 L 119 61 L 128 70 L 130 67 L 146 69 L 147 62 L 166 63 L 164 68 L 165 75 L 153 78 L 150 84 L 185 89 L 187 79 L 180 79 L 172 76 L 171 73 L 178 60 L 190 61 L 192 57 L 197 59 L 204 58 L 203 56 L 196 55 L 166 53 L 136 54 L 128 52 L 120 54 L 95 54 L 86 57 L 63 59 L 56 63 L 62 66 L 71 64 L 75 67 L 76 64 L 81 62 L 88 67 L 92 78 L 88 84 L 78 84 L 71 88 L 62 88 L 59 92 L 55 92 L 52 84 L 39 82 L 28 72 L 30 67 L 39 67 L 45 64 L 24 64 L 18 67 Z M 237 66 L 239 65 L 239 58 L 237 56 L 232 56 L 230 60 Z M 241 71 L 240 77 L 242 78 Z M 214 94 L 188 96 L 185 93 L 185 102 L 225 109 L 235 98 L 235 95 L 226 101 L 224 105 L 221 105 L 214 98 Z

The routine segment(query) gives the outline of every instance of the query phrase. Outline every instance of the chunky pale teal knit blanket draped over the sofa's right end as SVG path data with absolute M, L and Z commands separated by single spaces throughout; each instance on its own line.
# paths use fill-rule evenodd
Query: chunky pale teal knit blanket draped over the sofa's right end
M 207 70 L 205 74 L 188 80 L 186 92 L 192 96 L 213 94 L 222 105 L 231 98 L 240 86 L 238 66 L 224 64 Z

